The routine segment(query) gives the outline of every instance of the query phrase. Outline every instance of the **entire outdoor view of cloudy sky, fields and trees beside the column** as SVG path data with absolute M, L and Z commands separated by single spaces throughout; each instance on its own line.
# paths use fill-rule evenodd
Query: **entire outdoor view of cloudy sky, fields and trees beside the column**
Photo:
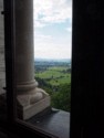
M 51 106 L 71 110 L 72 1 L 34 0 L 34 75 Z

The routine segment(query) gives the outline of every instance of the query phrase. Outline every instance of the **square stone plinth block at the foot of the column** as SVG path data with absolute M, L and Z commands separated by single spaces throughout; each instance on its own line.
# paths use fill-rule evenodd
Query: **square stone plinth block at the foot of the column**
M 40 88 L 38 88 L 40 91 Z M 19 102 L 18 98 L 18 118 L 22 119 L 22 120 L 27 120 L 29 118 L 31 118 L 32 116 L 41 113 L 42 110 L 44 110 L 45 108 L 50 107 L 51 105 L 51 99 L 49 94 L 46 94 L 44 91 L 41 89 L 41 93 L 43 93 L 43 97 L 32 104 L 29 104 L 28 100 L 25 100 L 27 104 L 24 104 L 23 102 Z M 20 105 L 19 105 L 20 104 Z

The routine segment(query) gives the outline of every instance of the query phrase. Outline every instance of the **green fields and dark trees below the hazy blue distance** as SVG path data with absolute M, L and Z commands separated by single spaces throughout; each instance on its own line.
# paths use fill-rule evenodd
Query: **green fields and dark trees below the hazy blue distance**
M 71 110 L 71 67 L 69 65 L 40 65 L 35 72 L 39 87 L 51 96 L 51 106 Z

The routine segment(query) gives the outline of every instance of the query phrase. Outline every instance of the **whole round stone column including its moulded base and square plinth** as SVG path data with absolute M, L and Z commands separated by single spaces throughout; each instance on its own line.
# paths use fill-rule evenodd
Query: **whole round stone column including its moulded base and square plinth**
M 18 115 L 28 119 L 50 106 L 34 79 L 33 0 L 15 0 L 15 76 Z

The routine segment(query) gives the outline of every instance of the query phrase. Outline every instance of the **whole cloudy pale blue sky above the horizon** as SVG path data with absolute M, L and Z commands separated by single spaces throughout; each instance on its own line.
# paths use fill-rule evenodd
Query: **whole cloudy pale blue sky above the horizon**
M 34 57 L 71 59 L 72 0 L 33 0 Z

